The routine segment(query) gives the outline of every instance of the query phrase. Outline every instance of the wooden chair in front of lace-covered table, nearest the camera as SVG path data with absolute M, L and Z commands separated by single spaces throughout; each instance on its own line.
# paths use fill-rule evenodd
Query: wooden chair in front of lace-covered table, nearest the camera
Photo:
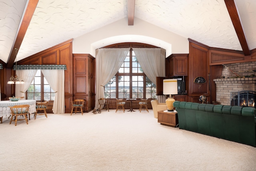
M 11 120 L 10 120 L 10 124 L 12 123 L 12 121 L 15 121 L 15 126 L 17 125 L 17 121 L 18 120 L 26 120 L 26 123 L 28 124 L 28 109 L 30 107 L 30 105 L 15 105 L 15 106 L 9 106 L 10 110 L 11 110 Z M 24 115 L 24 119 L 18 119 L 18 116 Z M 14 119 L 12 120 L 12 118 L 14 117 Z M 23 118 L 23 117 L 22 117 Z

